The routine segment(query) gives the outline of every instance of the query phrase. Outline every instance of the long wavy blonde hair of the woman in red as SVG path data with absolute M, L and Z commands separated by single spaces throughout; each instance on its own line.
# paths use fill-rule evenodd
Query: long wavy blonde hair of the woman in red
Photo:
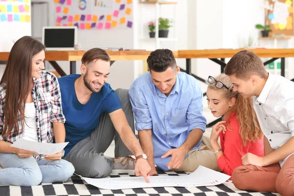
M 223 120 L 227 121 L 227 124 L 229 124 L 229 115 L 233 112 L 236 113 L 239 123 L 239 134 L 244 146 L 246 146 L 247 142 L 256 142 L 258 139 L 262 138 L 263 133 L 253 109 L 252 97 L 243 98 L 238 92 L 234 92 L 233 84 L 228 75 L 220 74 L 215 77 L 215 79 L 222 82 L 229 89 L 225 87 L 219 89 L 215 86 L 215 82 L 208 85 L 209 89 L 219 91 L 227 101 L 231 98 L 236 98 L 236 103 L 225 113 Z M 228 127 L 228 129 L 230 129 L 230 127 Z

